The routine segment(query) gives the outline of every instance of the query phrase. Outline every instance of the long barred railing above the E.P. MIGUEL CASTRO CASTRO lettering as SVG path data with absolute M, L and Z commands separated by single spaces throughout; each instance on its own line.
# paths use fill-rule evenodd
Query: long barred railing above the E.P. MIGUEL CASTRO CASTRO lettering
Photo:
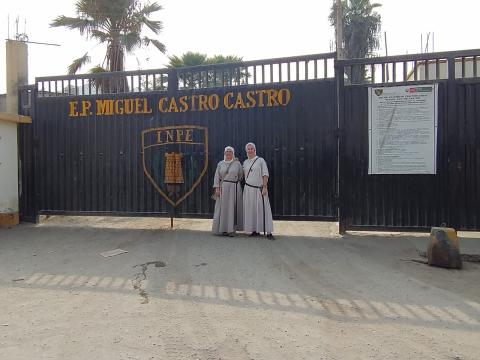
M 335 53 L 185 68 L 39 77 L 39 97 L 274 84 L 335 77 Z

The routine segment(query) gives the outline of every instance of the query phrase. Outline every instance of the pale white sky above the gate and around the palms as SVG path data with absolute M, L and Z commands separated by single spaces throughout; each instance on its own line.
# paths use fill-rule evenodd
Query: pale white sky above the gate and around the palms
M 19 33 L 30 41 L 60 46 L 29 44 L 29 82 L 35 77 L 63 75 L 73 59 L 86 52 L 91 67 L 101 64 L 105 47 L 86 40 L 78 32 L 50 28 L 59 15 L 75 16 L 75 0 L 0 0 L 0 94 L 5 93 L 5 39 Z M 157 37 L 167 47 L 164 55 L 150 47 L 129 56 L 126 70 L 163 68 L 171 55 L 187 51 L 209 56 L 237 55 L 244 60 L 268 59 L 332 51 L 334 30 L 328 21 L 332 0 L 157 0 L 163 10 L 154 17 L 163 22 Z M 377 0 L 389 55 L 421 52 L 430 33 L 429 51 L 480 48 L 478 0 Z M 8 21 L 9 17 L 9 21 Z M 26 26 L 25 26 L 26 22 Z M 8 24 L 9 23 L 9 24 Z M 9 26 L 8 26 L 9 25 Z M 146 35 L 152 34 L 146 32 Z M 434 34 L 434 35 L 432 35 Z M 434 48 L 432 38 L 434 36 Z M 85 67 L 83 72 L 87 72 Z

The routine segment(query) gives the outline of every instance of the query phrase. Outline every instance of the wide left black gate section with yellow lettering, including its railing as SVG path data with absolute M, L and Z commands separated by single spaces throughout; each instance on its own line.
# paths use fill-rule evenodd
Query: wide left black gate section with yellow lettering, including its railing
M 34 167 L 23 176 L 32 196 L 22 213 L 165 216 L 177 201 L 176 216 L 209 217 L 224 147 L 234 146 L 244 160 L 244 145 L 253 141 L 269 165 L 275 218 L 335 220 L 333 64 L 334 54 L 325 54 L 39 78 L 34 148 L 26 143 L 22 152 Z M 185 150 L 195 136 L 207 140 Z M 191 191 L 171 201 L 158 184 L 164 154 L 152 150 L 177 140 Z

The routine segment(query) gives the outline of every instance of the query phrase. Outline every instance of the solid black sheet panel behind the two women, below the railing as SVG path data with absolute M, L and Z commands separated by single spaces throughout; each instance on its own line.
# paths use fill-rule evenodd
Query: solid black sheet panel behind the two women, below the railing
M 288 90 L 286 105 L 229 109 L 236 94 Z M 218 95 L 218 109 L 169 111 L 169 99 Z M 141 98 L 151 112 L 97 115 L 96 102 Z M 166 98 L 159 110 L 159 101 Z M 83 102 L 90 102 L 86 116 Z M 72 105 L 73 104 L 73 105 Z M 85 103 L 87 104 L 87 103 Z M 216 164 L 232 145 L 246 158 L 244 145 L 257 144 L 269 165 L 269 186 L 275 218 L 336 218 L 335 185 L 337 142 L 334 136 L 335 84 L 333 80 L 283 85 L 109 94 L 39 97 L 35 131 L 39 140 L 38 193 L 42 214 L 167 215 L 168 202 L 145 176 L 142 165 L 143 130 L 195 125 L 208 128 L 208 170 L 200 184 L 176 208 L 177 216 L 209 217 Z M 143 105 L 142 105 L 143 106 Z M 90 114 L 91 113 L 91 114 Z

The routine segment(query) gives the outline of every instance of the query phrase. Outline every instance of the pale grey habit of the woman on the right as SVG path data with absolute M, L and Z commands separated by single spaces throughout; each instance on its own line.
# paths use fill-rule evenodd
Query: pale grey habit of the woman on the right
M 258 160 L 255 161 L 257 158 Z M 246 232 L 255 231 L 263 233 L 265 231 L 267 234 L 272 233 L 272 209 L 270 208 L 268 193 L 265 196 L 262 196 L 261 189 L 263 185 L 263 176 L 268 176 L 267 163 L 263 158 L 255 156 L 252 159 L 244 161 L 243 171 L 245 176 L 245 189 L 243 190 L 243 228 Z M 265 228 L 263 226 L 264 211 Z

